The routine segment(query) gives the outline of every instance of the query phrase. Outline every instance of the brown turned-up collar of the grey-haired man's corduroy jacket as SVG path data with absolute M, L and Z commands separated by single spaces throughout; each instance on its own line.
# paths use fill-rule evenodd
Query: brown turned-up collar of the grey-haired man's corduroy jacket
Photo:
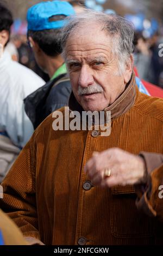
M 131 108 L 131 106 L 133 106 L 136 97 L 135 86 L 135 73 L 133 71 L 130 81 L 127 83 L 126 89 L 123 91 L 123 93 L 115 100 L 115 102 L 113 102 L 110 106 L 104 109 L 105 113 L 111 111 L 111 119 L 119 117 L 120 115 L 126 113 Z M 80 106 L 80 104 L 74 97 L 73 92 L 71 92 L 70 94 L 68 106 L 72 111 L 79 111 L 80 113 L 84 111 L 82 106 Z

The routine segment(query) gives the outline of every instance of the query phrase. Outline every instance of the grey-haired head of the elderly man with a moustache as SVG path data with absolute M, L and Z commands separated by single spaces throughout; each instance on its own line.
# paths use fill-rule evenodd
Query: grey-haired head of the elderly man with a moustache
M 123 17 L 92 10 L 63 29 L 62 50 L 74 96 L 88 111 L 101 111 L 123 92 L 133 70 L 134 29 Z

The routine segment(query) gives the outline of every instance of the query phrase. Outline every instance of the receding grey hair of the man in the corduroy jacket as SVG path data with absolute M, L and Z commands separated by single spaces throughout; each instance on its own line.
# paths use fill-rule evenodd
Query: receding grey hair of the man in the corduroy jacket
M 111 51 L 117 56 L 119 73 L 122 74 L 124 65 L 134 51 L 134 28 L 124 17 L 115 14 L 108 15 L 98 11 L 85 10 L 83 13 L 68 18 L 68 23 L 62 29 L 62 55 L 64 58 L 66 57 L 65 46 L 70 35 L 84 31 L 90 23 L 94 23 L 95 26 L 101 25 L 101 30 L 108 35 L 112 43 Z

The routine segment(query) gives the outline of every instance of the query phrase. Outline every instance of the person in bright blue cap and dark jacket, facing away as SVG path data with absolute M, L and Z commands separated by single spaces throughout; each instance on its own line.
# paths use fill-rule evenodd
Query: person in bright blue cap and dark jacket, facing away
M 28 9 L 28 40 L 40 68 L 51 78 L 42 88 L 24 99 L 34 129 L 56 109 L 66 106 L 71 93 L 66 65 L 61 57 L 60 37 L 65 18 L 73 15 L 72 5 L 47 1 Z

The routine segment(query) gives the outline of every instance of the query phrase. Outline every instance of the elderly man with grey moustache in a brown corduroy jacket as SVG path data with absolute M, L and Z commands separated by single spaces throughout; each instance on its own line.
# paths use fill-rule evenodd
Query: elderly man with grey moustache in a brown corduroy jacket
M 86 11 L 66 25 L 62 46 L 71 110 L 36 129 L 2 184 L 1 207 L 24 236 L 47 245 L 159 244 L 163 101 L 135 87 L 133 29 Z M 103 112 L 105 126 L 111 112 L 110 136 L 95 122 L 68 130 L 84 111 Z

